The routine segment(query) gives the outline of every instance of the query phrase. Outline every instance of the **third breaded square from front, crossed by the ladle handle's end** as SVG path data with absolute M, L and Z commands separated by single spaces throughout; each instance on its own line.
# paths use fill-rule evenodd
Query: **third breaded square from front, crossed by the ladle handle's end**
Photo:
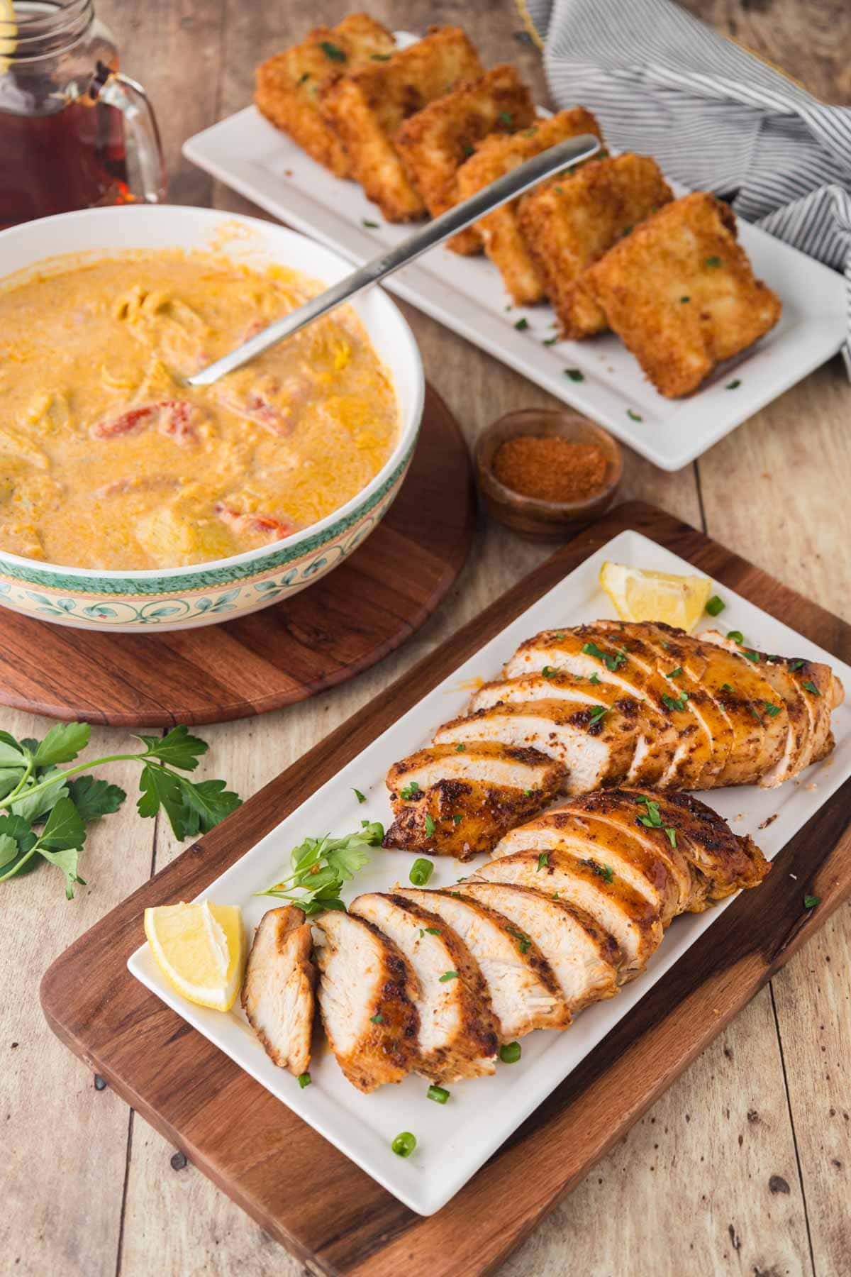
M 532 156 L 581 133 L 592 133 L 602 138 L 600 125 L 591 111 L 574 106 L 569 111 L 559 111 L 547 120 L 538 120 L 537 124 L 512 137 L 495 134 L 485 138 L 476 147 L 476 155 L 458 170 L 458 198 L 468 199 L 482 186 L 517 169 Z M 489 258 L 501 271 L 505 287 L 515 304 L 540 301 L 545 295 L 544 277 L 523 239 L 517 217 L 517 200 L 503 204 L 487 217 L 482 217 L 476 222 L 476 230 L 482 238 Z

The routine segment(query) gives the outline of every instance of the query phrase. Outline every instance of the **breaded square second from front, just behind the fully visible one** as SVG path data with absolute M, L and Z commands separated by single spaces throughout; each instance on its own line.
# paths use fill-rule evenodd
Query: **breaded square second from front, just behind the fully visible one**
M 521 230 L 563 336 L 605 331 L 606 317 L 583 282 L 587 267 L 671 199 L 655 160 L 623 155 L 591 160 L 568 181 L 556 179 L 521 200 Z

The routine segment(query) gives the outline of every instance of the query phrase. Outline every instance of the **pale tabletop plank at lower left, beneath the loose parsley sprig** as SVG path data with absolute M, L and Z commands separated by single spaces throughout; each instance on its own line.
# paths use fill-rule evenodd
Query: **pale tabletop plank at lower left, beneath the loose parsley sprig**
M 5 713 L 4 729 L 42 736 L 50 724 Z M 93 756 L 130 747 L 92 733 Z M 139 767 L 112 765 L 110 779 L 138 789 Z M 65 900 L 63 875 L 42 865 L 3 884 L 0 1055 L 3 1057 L 4 1211 L 0 1267 L 18 1274 L 111 1273 L 121 1220 L 129 1112 L 115 1091 L 96 1089 L 91 1069 L 71 1061 L 37 1013 L 47 963 L 149 873 L 154 822 L 134 803 L 92 827 L 80 859 L 87 886 Z

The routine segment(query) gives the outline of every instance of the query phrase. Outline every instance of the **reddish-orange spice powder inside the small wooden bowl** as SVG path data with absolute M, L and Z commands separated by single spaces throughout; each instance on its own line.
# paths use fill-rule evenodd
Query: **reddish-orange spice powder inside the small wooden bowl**
M 607 461 L 596 443 L 559 435 L 521 434 L 505 439 L 494 457 L 494 474 L 521 497 L 538 501 L 583 501 L 602 492 Z

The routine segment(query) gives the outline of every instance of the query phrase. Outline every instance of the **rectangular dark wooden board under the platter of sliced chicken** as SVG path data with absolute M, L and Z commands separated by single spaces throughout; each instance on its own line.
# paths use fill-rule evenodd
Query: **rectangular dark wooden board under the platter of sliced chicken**
M 681 554 L 841 660 L 851 626 L 640 502 L 579 534 L 47 971 L 51 1028 L 315 1273 L 463 1277 L 495 1269 L 851 893 L 851 782 L 436 1214 L 420 1217 L 281 1105 L 126 969 L 145 905 L 190 900 L 436 683 L 620 531 Z M 790 877 L 795 873 L 795 879 Z M 803 888 L 820 896 L 805 911 Z M 528 1167 L 535 1166 L 535 1174 Z M 498 1221 L 498 1222 L 496 1222 Z

